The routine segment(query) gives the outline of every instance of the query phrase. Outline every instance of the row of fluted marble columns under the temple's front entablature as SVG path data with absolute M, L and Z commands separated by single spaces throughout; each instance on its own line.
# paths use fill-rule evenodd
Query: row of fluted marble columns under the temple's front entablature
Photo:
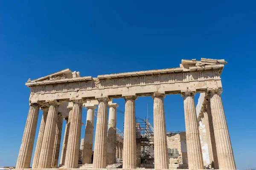
M 192 91 L 182 92 L 182 96 L 184 98 L 183 101 L 189 169 L 204 169 L 199 139 L 198 122 L 195 111 L 194 95 L 195 92 Z M 209 95 L 210 111 L 212 114 L 212 125 L 215 136 L 215 146 L 218 157 L 218 167 L 220 169 L 234 170 L 236 169 L 236 165 L 233 157 L 233 150 L 231 147 L 230 137 L 227 129 L 227 122 L 221 101 L 221 91 L 219 89 L 209 91 Z M 125 99 L 123 168 L 135 169 L 137 164 L 135 99 L 137 99 L 137 96 L 129 95 L 123 97 Z M 152 97 L 154 99 L 154 166 L 155 169 L 168 169 L 169 160 L 167 152 L 166 122 L 163 104 L 163 98 L 165 97 L 165 94 L 161 92 L 155 92 Z M 108 162 L 113 162 L 112 158 L 113 156 L 115 156 L 114 152 L 116 149 L 113 145 L 111 145 L 111 143 L 116 143 L 113 142 L 115 138 L 113 136 L 113 133 L 116 133 L 116 122 L 112 121 L 116 119 L 111 118 L 108 125 L 108 97 L 100 96 L 96 99 L 98 99 L 99 101 L 99 107 L 96 122 L 96 134 L 94 144 L 95 159 L 93 160 L 93 168 L 105 168 L 107 164 L 107 156 L 110 156 Z M 73 101 L 73 103 L 73 109 L 72 111 L 70 111 L 70 116 L 65 128 L 65 139 L 63 142 L 63 148 L 66 148 L 66 151 L 63 150 L 61 153 L 61 164 L 64 164 L 65 168 L 77 168 L 79 159 L 82 103 L 79 101 Z M 55 166 L 54 162 L 58 160 L 52 159 L 53 155 L 58 155 L 54 152 L 59 151 L 58 145 L 55 147 L 55 141 L 59 140 L 59 136 L 56 136 L 56 129 L 60 127 L 60 125 L 58 125 L 58 110 L 56 102 L 50 102 L 49 105 L 50 106 L 47 112 L 46 121 L 43 114 L 43 119 L 41 122 L 42 130 L 40 127 L 40 130 L 44 131 L 44 134 L 43 137 L 40 137 L 40 140 L 38 140 L 40 144 L 37 144 L 38 148 L 40 147 L 39 145 L 41 145 L 40 154 L 37 153 L 38 168 L 53 167 Z M 116 107 L 113 107 L 112 110 L 111 107 L 111 112 L 114 113 L 111 115 L 116 116 L 116 110 L 114 108 L 116 109 Z M 90 111 L 88 109 L 88 112 L 92 114 L 94 113 L 94 109 L 95 108 L 90 108 Z M 32 147 L 29 146 L 33 146 L 34 143 L 38 112 L 39 105 L 32 104 L 29 109 L 29 115 L 24 130 L 23 140 L 20 147 L 20 153 L 18 156 L 16 168 L 29 168 L 32 156 Z M 90 163 L 90 158 L 88 159 L 88 157 L 86 156 L 89 155 L 87 153 L 91 152 L 92 149 L 91 139 L 93 138 L 91 138 L 91 136 L 93 136 L 93 119 L 87 120 L 86 127 L 87 126 L 88 130 L 86 130 L 84 138 L 85 141 L 83 149 L 83 163 Z M 109 134 L 107 133 L 107 128 L 109 130 Z M 66 138 L 67 136 L 68 140 Z M 110 144 L 108 145 L 108 143 Z M 107 150 L 108 148 L 109 150 Z

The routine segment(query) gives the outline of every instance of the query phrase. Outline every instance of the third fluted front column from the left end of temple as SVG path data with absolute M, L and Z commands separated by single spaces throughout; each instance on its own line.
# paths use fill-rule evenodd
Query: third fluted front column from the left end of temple
M 70 119 L 70 131 L 67 142 L 67 153 L 65 168 L 77 168 L 79 159 L 79 146 L 82 125 L 82 103 L 79 100 L 73 101 L 73 110 Z

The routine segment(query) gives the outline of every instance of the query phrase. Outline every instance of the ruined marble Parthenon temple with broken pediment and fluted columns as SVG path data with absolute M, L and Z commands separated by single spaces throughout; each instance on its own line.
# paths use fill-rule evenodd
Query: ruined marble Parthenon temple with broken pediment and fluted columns
M 177 68 L 96 78 L 81 77 L 67 68 L 29 79 L 30 108 L 16 169 L 236 170 L 221 99 L 225 64 L 224 59 L 182 59 Z M 197 105 L 195 93 L 200 93 Z M 166 131 L 164 98 L 172 94 L 183 98 L 186 132 Z M 136 117 L 136 99 L 143 96 L 152 97 L 153 126 Z M 123 130 L 116 127 L 120 105 L 113 102 L 116 98 L 125 103 Z M 83 109 L 87 110 L 84 126 Z M 39 110 L 43 114 L 35 141 Z

